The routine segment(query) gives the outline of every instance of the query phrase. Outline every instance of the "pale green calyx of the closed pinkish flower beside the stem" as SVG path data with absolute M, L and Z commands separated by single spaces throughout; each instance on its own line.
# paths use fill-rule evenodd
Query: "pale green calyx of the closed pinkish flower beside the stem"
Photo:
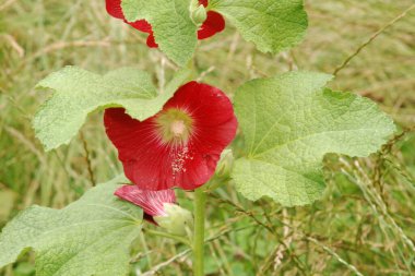
M 163 207 L 167 215 L 153 217 L 159 227 L 178 236 L 187 236 L 192 231 L 193 216 L 188 209 L 174 203 L 164 203 Z

